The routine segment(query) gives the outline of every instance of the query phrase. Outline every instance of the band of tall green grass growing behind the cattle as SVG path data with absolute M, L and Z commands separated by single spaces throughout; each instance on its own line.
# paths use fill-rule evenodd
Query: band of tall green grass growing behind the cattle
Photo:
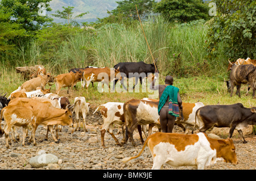
M 226 70 L 224 52 L 217 58 L 207 58 L 208 26 L 203 21 L 188 24 L 166 22 L 162 16 L 152 16 L 143 22 L 143 29 L 162 75 L 219 74 Z M 180 57 L 177 57 L 177 54 Z M 59 44 L 44 46 L 31 39 L 19 43 L 13 57 L 2 57 L 2 64 L 28 66 L 42 64 L 54 73 L 88 65 L 112 68 L 118 62 L 144 61 L 152 64 L 141 24 L 127 28 L 122 24 L 105 24 L 94 31 L 77 31 Z

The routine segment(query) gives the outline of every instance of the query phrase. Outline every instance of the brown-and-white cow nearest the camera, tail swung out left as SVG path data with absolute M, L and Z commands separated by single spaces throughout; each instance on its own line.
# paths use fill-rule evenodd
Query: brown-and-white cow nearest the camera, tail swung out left
M 205 133 L 177 134 L 156 132 L 151 134 L 144 142 L 141 152 L 135 157 L 123 158 L 123 162 L 138 158 L 144 148 L 148 146 L 153 158 L 152 169 L 163 169 L 164 163 L 168 165 L 192 166 L 204 169 L 218 160 L 237 165 L 236 148 L 233 141 L 209 138 Z

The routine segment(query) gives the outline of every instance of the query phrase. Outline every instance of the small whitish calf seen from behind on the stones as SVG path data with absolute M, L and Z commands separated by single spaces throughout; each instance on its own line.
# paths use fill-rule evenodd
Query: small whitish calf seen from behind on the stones
M 82 118 L 82 127 L 84 128 L 85 132 L 87 132 L 85 118 L 86 118 L 86 114 L 89 114 L 89 106 L 90 106 L 90 104 L 86 103 L 86 100 L 84 97 L 79 96 L 79 97 L 75 98 L 74 110 L 73 110 L 73 112 L 76 115 L 75 131 L 77 131 L 78 127 L 79 127 L 79 131 L 80 131 L 80 128 L 81 128 L 80 118 Z

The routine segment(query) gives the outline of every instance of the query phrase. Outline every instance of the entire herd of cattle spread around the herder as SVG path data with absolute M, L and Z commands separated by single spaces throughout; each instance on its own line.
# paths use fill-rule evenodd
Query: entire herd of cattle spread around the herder
M 227 82 L 228 89 L 231 88 L 233 94 L 234 86 L 237 86 L 237 94 L 240 96 L 240 87 L 242 83 L 248 83 L 249 89 L 253 89 L 255 98 L 256 89 L 256 68 L 255 60 L 247 58 L 246 60 L 238 59 L 229 66 L 230 80 Z M 249 63 L 248 63 L 249 62 Z M 69 102 L 72 95 L 73 86 L 81 81 L 81 85 L 88 89 L 90 82 L 109 83 L 113 81 L 110 77 L 122 81 L 125 74 L 127 78 L 129 73 L 157 73 L 159 72 L 155 64 L 145 64 L 144 62 L 123 62 L 114 66 L 115 71 L 109 68 L 86 67 L 84 69 L 71 69 L 69 73 L 60 74 L 52 77 L 47 73 L 45 68 L 39 66 L 35 78 L 24 82 L 17 90 L 11 92 L 6 98 L 0 96 L 1 119 L 4 124 L 3 129 L 0 127 L 1 134 L 5 133 L 6 147 L 9 148 L 9 133 L 14 141 L 19 141 L 17 127 L 23 128 L 22 145 L 25 144 L 25 138 L 28 136 L 28 130 L 31 131 L 29 142 L 35 141 L 35 131 L 38 125 L 44 125 L 51 132 L 53 140 L 58 143 L 58 125 L 74 125 L 74 117 L 77 122 L 76 129 L 82 128 L 86 131 L 86 114 L 89 113 L 90 103 L 82 96 L 75 98 L 74 103 Z M 98 74 L 106 73 L 109 79 L 98 79 Z M 84 81 L 84 82 L 83 82 Z M 140 78 L 142 83 L 142 80 Z M 138 79 L 135 83 L 138 82 Z M 46 85 L 56 85 L 56 94 L 51 92 L 51 87 L 45 89 Z M 86 83 L 86 85 L 85 85 Z M 123 82 L 121 82 L 123 83 Z M 230 86 L 230 87 L 229 87 Z M 60 96 L 60 89 L 68 87 L 69 98 Z M 124 87 L 126 89 L 126 87 Z M 249 91 L 248 89 L 248 91 Z M 247 93 L 246 93 L 247 94 Z M 143 149 L 147 145 L 154 161 L 152 169 L 161 169 L 164 163 L 172 166 L 196 166 L 197 169 L 204 169 L 205 166 L 215 163 L 218 159 L 223 158 L 226 162 L 237 164 L 237 157 L 232 140 L 216 140 L 209 138 L 205 133 L 187 134 L 188 128 L 183 124 L 197 127 L 200 132 L 205 132 L 212 127 L 229 127 L 229 138 L 232 137 L 234 129 L 240 133 L 243 143 L 246 143 L 242 130 L 248 125 L 256 125 L 256 107 L 245 108 L 241 103 L 232 105 L 214 105 L 204 106 L 203 103 L 184 103 L 183 117 L 177 117 L 175 124 L 183 128 L 185 134 L 160 133 L 160 123 L 158 115 L 158 99 L 131 99 L 125 103 L 108 102 L 96 108 L 93 112 L 101 112 L 104 125 L 101 128 L 101 144 L 105 147 L 104 136 L 106 131 L 114 138 L 117 145 L 124 145 L 129 137 L 135 146 L 133 132 L 137 128 L 141 142 L 143 143 L 142 131 L 147 137 Z M 114 124 L 120 125 L 123 131 L 123 140 L 118 141 L 113 134 Z M 0 124 L 1 125 L 1 124 Z M 148 125 L 148 132 L 147 132 Z M 159 133 L 151 134 L 152 127 L 156 126 Z M 53 128 L 56 136 L 53 134 Z M 192 130 L 192 133 L 193 133 Z M 74 131 L 74 129 L 73 129 Z M 150 135 L 151 134 L 151 135 Z M 142 151 L 143 151 L 142 149 Z M 141 151 L 141 153 L 142 153 Z M 123 162 L 135 157 L 124 158 Z

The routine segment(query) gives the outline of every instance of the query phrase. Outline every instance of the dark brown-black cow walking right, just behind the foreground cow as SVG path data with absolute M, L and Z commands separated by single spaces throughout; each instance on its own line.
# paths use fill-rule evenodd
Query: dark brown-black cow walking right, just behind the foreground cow
M 234 129 L 237 129 L 243 143 L 246 143 L 241 129 L 248 125 L 256 125 L 256 107 L 245 108 L 241 103 L 204 106 L 196 111 L 195 121 L 196 118 L 199 121 L 200 132 L 205 132 L 212 127 L 229 127 L 229 138 L 232 137 Z

